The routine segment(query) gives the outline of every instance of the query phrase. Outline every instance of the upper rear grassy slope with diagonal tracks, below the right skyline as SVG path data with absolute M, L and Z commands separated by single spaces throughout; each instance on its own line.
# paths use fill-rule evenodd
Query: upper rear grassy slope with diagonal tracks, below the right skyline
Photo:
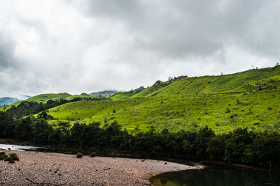
M 280 65 L 273 68 L 247 70 L 231 75 L 189 77 L 175 80 L 171 84 L 169 82 L 158 81 L 153 86 L 137 94 L 119 93 L 118 98 L 122 98 L 123 96 L 124 98 L 144 98 L 165 95 L 240 93 L 247 91 L 244 86 L 248 86 L 248 84 L 250 86 L 258 80 L 267 79 L 276 75 L 280 75 Z

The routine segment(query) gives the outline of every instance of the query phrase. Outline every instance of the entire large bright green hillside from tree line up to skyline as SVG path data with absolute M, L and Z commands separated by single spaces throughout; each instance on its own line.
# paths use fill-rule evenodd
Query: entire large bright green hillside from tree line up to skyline
M 235 75 L 191 77 L 143 92 L 138 93 L 143 95 L 139 98 L 128 92 L 114 95 L 118 100 L 113 101 L 72 102 L 50 109 L 50 114 L 59 120 L 99 121 L 103 125 L 116 120 L 127 130 L 137 125 L 141 130 L 151 125 L 172 131 L 203 125 L 216 132 L 235 127 L 280 130 L 279 66 Z

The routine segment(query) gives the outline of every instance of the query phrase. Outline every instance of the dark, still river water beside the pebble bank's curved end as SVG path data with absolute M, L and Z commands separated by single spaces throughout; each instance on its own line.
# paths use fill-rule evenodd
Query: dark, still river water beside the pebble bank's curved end
M 280 174 L 211 167 L 193 171 L 164 173 L 151 178 L 151 183 L 155 186 L 269 186 L 280 185 Z

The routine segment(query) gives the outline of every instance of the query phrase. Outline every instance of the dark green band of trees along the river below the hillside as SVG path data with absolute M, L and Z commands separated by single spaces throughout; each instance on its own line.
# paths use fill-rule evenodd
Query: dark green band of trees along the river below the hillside
M 94 148 L 97 152 L 109 150 L 142 157 L 223 161 L 269 169 L 279 169 L 280 166 L 278 133 L 241 128 L 226 134 L 215 134 L 209 127 L 179 132 L 167 129 L 155 132 L 155 128 L 150 127 L 146 132 L 127 132 L 116 121 L 104 127 L 100 127 L 100 123 L 70 125 L 66 122 L 52 127 L 44 118 L 13 119 L 7 112 L 0 112 L 0 138 L 64 148 Z

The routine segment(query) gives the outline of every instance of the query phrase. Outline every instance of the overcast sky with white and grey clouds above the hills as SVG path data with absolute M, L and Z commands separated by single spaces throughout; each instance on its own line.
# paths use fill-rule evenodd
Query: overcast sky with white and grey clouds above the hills
M 0 97 L 276 65 L 278 0 L 1 0 Z

